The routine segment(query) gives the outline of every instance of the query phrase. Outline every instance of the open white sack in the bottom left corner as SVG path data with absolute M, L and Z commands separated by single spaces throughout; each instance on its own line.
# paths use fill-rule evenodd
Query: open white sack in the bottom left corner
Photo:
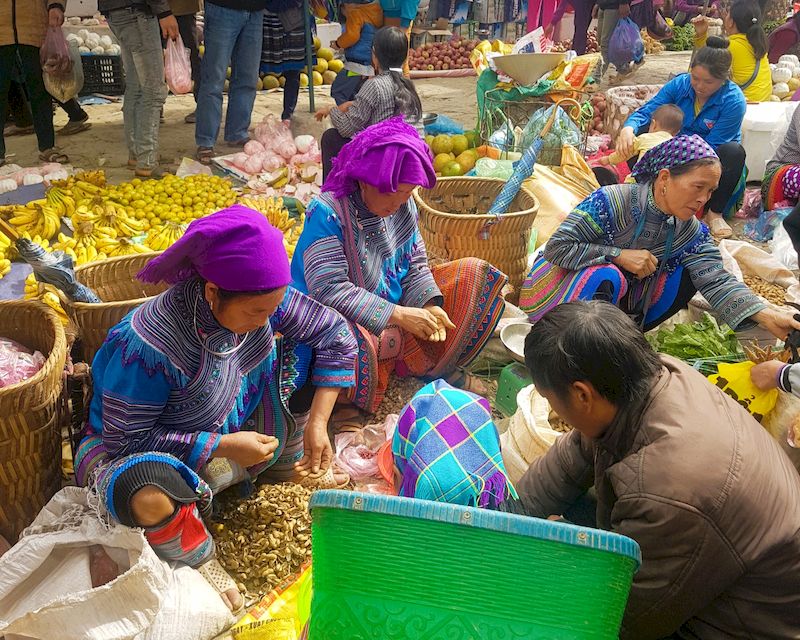
M 213 638 L 232 621 L 194 569 L 160 560 L 141 529 L 108 524 L 86 489 L 66 487 L 0 558 L 0 634 L 41 640 Z M 92 588 L 101 545 L 120 575 Z M 190 572 L 187 574 L 187 571 Z M 191 575 L 191 577 L 190 577 Z

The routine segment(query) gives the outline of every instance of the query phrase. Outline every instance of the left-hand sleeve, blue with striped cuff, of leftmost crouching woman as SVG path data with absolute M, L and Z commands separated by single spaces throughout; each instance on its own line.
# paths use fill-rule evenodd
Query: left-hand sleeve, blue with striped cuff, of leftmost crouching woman
M 219 434 L 159 427 L 159 418 L 169 410 L 171 391 L 163 372 L 148 372 L 138 361 L 123 364 L 121 350 L 112 354 L 101 377 L 95 378 L 95 393 L 102 403 L 103 445 L 112 458 L 159 451 L 174 455 L 195 471 L 208 462 Z

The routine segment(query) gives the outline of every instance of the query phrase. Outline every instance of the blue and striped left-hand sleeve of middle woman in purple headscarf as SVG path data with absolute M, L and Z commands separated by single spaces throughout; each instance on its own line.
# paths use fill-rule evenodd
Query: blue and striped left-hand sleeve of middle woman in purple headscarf
M 375 335 L 386 328 L 395 305 L 351 282 L 340 222 L 326 204 L 309 207 L 297 251 L 292 277 L 305 282 L 309 296 Z

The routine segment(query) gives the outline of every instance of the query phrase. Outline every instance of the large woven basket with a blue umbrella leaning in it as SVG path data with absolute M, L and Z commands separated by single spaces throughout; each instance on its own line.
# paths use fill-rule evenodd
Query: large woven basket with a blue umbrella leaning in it
M 508 213 L 485 211 L 505 182 L 498 178 L 440 178 L 433 189 L 415 189 L 419 228 L 431 258 L 482 258 L 505 273 L 518 292 L 528 271 L 528 244 L 539 202 L 522 187 Z

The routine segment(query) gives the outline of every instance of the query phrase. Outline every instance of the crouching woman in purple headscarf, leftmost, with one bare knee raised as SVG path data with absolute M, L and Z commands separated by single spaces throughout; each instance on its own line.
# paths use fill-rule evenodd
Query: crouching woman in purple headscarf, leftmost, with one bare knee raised
M 201 516 L 213 490 L 267 470 L 324 488 L 348 480 L 333 474 L 327 424 L 354 383 L 355 338 L 288 286 L 283 235 L 241 205 L 193 222 L 138 277 L 172 287 L 111 329 L 95 356 L 76 478 L 236 610 L 242 598 Z

